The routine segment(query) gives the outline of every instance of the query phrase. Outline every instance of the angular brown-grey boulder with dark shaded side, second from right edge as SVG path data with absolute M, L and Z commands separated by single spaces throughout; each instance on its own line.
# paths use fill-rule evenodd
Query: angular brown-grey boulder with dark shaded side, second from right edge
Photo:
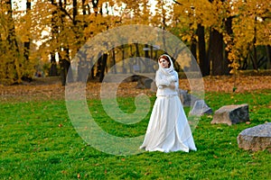
M 228 125 L 249 121 L 248 104 L 225 105 L 214 112 L 210 123 L 226 123 Z

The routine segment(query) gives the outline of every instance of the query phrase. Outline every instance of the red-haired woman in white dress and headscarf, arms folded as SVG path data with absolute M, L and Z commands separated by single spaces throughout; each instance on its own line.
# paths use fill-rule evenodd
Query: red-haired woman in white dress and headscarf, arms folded
M 158 58 L 155 83 L 158 87 L 145 139 L 140 148 L 171 152 L 197 150 L 179 98 L 179 78 L 168 55 Z

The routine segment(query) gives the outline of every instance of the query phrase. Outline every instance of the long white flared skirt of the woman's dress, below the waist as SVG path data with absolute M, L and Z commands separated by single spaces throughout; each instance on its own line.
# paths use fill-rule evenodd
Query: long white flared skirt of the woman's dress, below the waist
M 157 96 L 140 148 L 162 152 L 197 150 L 178 95 Z

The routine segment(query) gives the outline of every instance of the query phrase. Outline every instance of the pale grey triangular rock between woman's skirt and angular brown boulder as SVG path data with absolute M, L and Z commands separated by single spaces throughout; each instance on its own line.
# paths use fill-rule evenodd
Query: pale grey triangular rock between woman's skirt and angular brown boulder
M 192 107 L 192 111 L 189 112 L 190 115 L 196 115 L 196 116 L 201 116 L 203 114 L 211 114 L 211 113 L 212 113 L 212 110 L 204 102 L 204 100 L 196 101 Z

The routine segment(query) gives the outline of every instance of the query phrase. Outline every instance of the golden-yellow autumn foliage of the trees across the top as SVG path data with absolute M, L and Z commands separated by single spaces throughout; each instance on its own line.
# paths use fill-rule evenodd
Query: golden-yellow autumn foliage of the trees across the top
M 66 2 L 67 4 L 63 4 L 60 8 L 59 4 L 51 4 L 51 1 L 36 1 L 27 14 L 16 12 L 15 8 L 14 22 L 9 21 L 6 16 L 7 9 L 2 6 L 0 9 L 2 40 L 0 48 L 5 53 L 0 55 L 0 58 L 5 60 L 0 62 L 1 82 L 5 81 L 3 79 L 6 79 L 6 76 L 9 79 L 20 79 L 25 75 L 32 76 L 34 66 L 39 61 L 48 62 L 50 53 L 56 51 L 61 53 L 63 48 L 69 48 L 70 58 L 73 58 L 87 40 L 91 40 L 100 32 L 125 24 L 147 24 L 164 28 L 172 31 L 188 44 L 192 39 L 197 40 L 195 37 L 199 23 L 207 30 L 206 38 L 208 38 L 210 28 L 216 29 L 223 34 L 232 73 L 236 72 L 239 66 L 238 61 L 247 56 L 252 45 L 271 44 L 271 7 L 266 0 L 247 0 L 246 3 L 245 1 L 214 0 L 210 3 L 209 0 L 178 0 L 182 5 L 163 0 L 156 1 L 152 10 L 147 0 L 136 2 L 98 0 L 97 14 L 94 13 L 92 2 L 86 0 L 84 5 L 89 5 L 87 11 L 90 14 L 82 14 L 83 4 L 77 1 L 76 17 L 72 14 L 72 0 Z M 105 9 L 106 6 L 108 12 Z M 99 13 L 101 9 L 103 14 Z M 225 21 L 230 17 L 233 17 L 232 34 L 228 34 L 225 26 Z M 17 54 L 10 51 L 10 44 L 7 41 L 7 27 L 11 23 L 14 23 L 15 40 L 19 47 Z M 256 43 L 253 44 L 255 38 Z M 28 41 L 31 41 L 32 45 L 29 60 L 25 61 L 23 42 Z M 186 58 L 182 57 L 182 59 Z M 189 63 L 188 60 L 184 62 L 183 66 Z

